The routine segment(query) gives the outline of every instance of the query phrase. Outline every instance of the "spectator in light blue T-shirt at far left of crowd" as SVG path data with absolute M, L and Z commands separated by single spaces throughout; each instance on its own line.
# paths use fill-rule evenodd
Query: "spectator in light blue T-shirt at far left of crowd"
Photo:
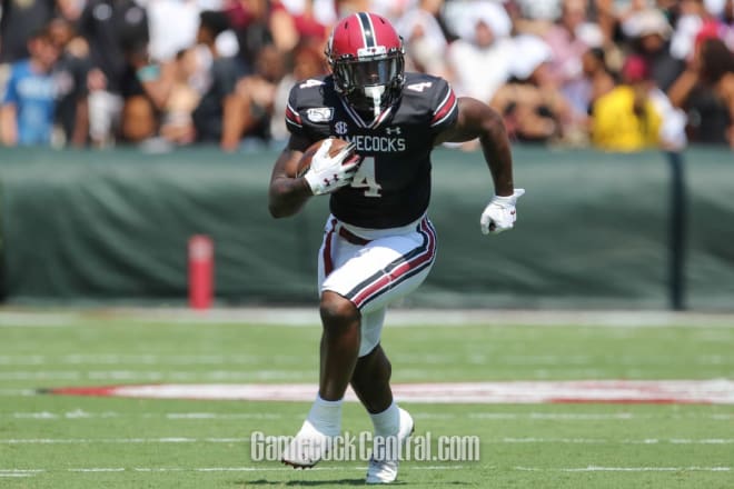
M 0 106 L 0 138 L 4 146 L 50 144 L 53 134 L 56 82 L 53 66 L 59 48 L 47 28 L 28 40 L 30 58 L 11 64 Z

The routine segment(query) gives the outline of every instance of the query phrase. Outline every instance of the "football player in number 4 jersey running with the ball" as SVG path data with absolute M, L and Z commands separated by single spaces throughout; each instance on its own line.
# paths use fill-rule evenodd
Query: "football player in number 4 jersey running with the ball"
M 354 13 L 328 40 L 331 73 L 290 91 L 290 140 L 272 169 L 270 213 L 292 216 L 321 194 L 329 196 L 330 209 L 318 265 L 319 388 L 284 453 L 282 461 L 294 467 L 313 467 L 340 432 L 349 385 L 376 437 L 403 442 L 413 431 L 413 418 L 393 399 L 380 332 L 387 306 L 415 290 L 436 257 L 436 232 L 426 214 L 432 149 L 479 138 L 495 191 L 479 220 L 485 234 L 513 228 L 524 193 L 514 188 L 502 118 L 483 102 L 457 98 L 442 78 L 406 73 L 404 56 L 403 40 L 385 18 Z M 297 177 L 305 150 L 329 137 L 350 144 L 335 153 L 326 139 Z M 397 468 L 395 452 L 374 451 L 367 482 L 391 482 Z

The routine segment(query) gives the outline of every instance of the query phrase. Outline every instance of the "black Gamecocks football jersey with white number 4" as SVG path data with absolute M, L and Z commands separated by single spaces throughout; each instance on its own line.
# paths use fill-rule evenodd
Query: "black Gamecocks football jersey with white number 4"
M 288 130 L 311 142 L 334 136 L 354 141 L 363 162 L 351 186 L 331 193 L 339 220 L 386 229 L 419 219 L 430 199 L 430 151 L 436 136 L 456 122 L 457 99 L 446 80 L 406 73 L 399 100 L 365 120 L 335 91 L 330 76 L 290 90 Z

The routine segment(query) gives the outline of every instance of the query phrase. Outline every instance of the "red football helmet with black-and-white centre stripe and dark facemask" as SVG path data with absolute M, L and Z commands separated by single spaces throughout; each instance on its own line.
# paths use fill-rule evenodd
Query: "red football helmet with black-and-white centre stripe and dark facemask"
M 357 12 L 336 24 L 326 46 L 334 86 L 360 112 L 377 117 L 400 96 L 403 38 L 384 17 Z

